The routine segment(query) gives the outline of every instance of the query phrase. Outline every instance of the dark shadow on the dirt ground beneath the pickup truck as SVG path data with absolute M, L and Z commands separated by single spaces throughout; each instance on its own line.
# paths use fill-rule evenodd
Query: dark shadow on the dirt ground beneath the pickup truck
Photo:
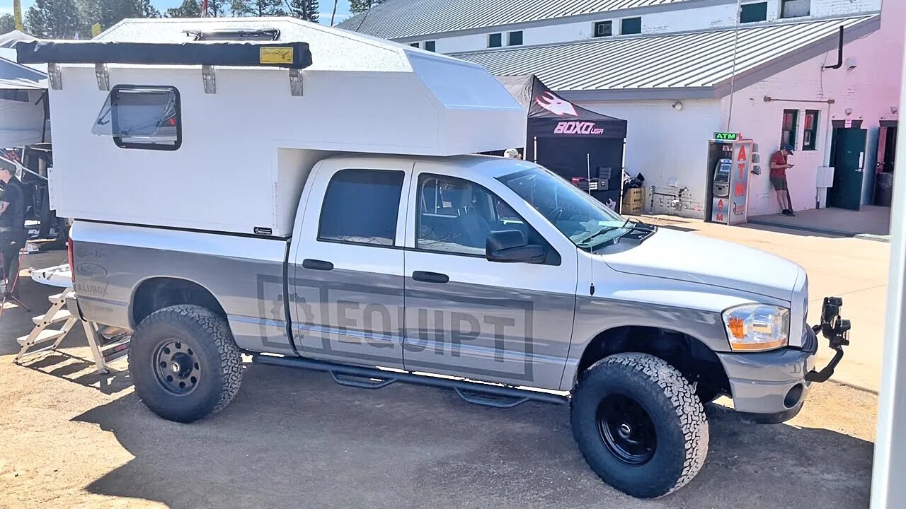
M 482 408 L 443 389 L 349 389 L 324 373 L 254 365 L 216 418 L 171 423 L 132 393 L 76 420 L 111 431 L 135 456 L 88 491 L 171 508 L 867 506 L 870 442 L 750 425 L 716 406 L 708 414 L 704 469 L 656 501 L 591 473 L 568 408 Z

